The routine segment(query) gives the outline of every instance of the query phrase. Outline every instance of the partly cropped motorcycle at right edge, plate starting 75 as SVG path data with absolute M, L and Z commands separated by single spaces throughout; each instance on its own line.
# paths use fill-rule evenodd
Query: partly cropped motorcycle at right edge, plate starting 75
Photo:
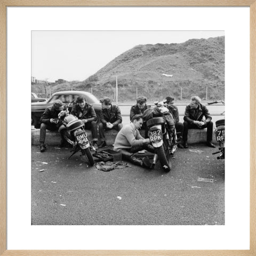
M 220 100 L 220 101 L 214 101 L 214 102 L 209 102 L 208 105 L 216 104 L 216 103 L 222 103 L 225 105 L 225 102 Z M 221 114 L 224 115 L 225 111 Z M 216 129 L 214 131 L 215 133 L 215 138 L 217 142 L 219 143 L 219 151 L 212 153 L 213 155 L 219 154 L 220 155 L 217 157 L 217 159 L 225 159 L 225 119 L 219 119 L 215 122 Z

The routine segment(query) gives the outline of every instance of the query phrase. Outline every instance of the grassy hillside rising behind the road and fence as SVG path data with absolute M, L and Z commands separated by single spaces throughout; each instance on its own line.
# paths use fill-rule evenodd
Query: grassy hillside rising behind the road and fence
M 163 75 L 165 74 L 165 75 Z M 199 95 L 225 98 L 225 37 L 190 39 L 181 44 L 138 45 L 124 52 L 82 82 L 52 87 L 52 91 L 93 92 L 114 98 L 118 77 L 119 101 L 134 101 L 137 92 L 149 100 L 174 95 L 178 100 Z M 91 89 L 92 88 L 92 89 Z

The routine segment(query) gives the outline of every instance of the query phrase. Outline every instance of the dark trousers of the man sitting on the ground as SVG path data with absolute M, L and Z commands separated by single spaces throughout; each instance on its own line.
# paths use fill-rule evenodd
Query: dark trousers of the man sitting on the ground
M 135 157 L 134 154 L 137 153 L 140 150 L 148 150 L 151 153 L 155 153 L 154 147 L 151 146 L 150 144 L 145 144 L 142 146 L 134 146 L 131 147 L 130 149 L 121 149 L 120 152 L 122 153 L 122 157 L 123 159 L 125 159 L 126 161 L 129 161 L 135 165 L 142 165 L 142 160 L 138 157 Z

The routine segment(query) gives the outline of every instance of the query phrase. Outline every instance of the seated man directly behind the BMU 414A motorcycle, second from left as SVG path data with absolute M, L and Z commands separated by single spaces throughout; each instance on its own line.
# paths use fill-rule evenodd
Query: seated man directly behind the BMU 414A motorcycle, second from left
M 83 95 L 77 97 L 70 114 L 81 119 L 84 123 L 84 128 L 92 131 L 93 146 L 98 149 L 97 115 L 93 106 L 86 102 Z

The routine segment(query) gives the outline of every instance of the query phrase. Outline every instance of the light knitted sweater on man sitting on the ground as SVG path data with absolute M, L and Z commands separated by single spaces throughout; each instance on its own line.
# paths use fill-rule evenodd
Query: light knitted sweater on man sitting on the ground
M 138 129 L 133 123 L 126 124 L 116 135 L 114 150 L 131 148 L 132 146 L 142 146 L 144 138 L 140 135 Z

